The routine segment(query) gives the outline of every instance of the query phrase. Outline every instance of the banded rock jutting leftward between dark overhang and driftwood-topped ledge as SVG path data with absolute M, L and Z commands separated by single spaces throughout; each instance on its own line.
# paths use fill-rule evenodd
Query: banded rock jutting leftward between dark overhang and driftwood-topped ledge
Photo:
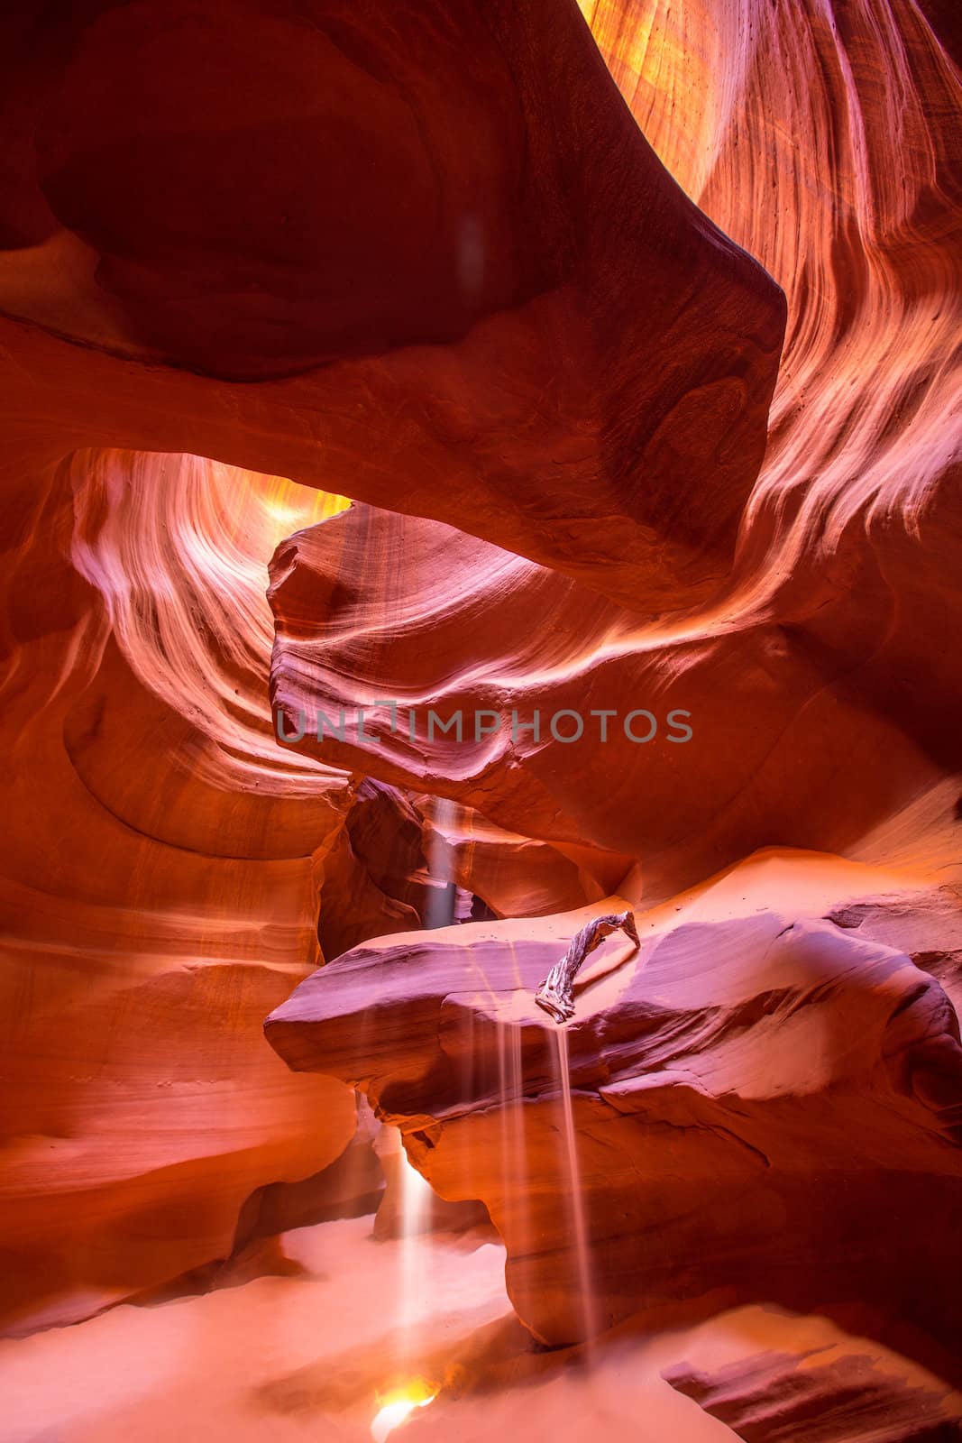
M 955 504 L 946 492 L 946 519 Z M 456 797 L 560 847 L 640 859 L 662 893 L 773 837 L 845 853 L 962 765 L 962 683 L 942 645 L 943 628 L 962 625 L 962 532 L 919 524 L 899 602 L 888 564 L 883 574 L 868 540 L 852 541 L 857 612 L 815 590 L 805 620 L 747 610 L 666 638 L 498 547 L 352 506 L 273 560 L 278 726 L 304 733 L 288 750 Z M 899 685 L 883 687 L 894 674 Z M 397 716 L 366 707 L 362 737 L 358 706 L 379 698 Z M 658 722 L 650 743 L 626 734 L 636 709 Z M 343 739 L 332 730 L 342 710 Z M 431 734 L 431 710 L 444 724 L 462 714 L 460 740 L 437 724 Z M 562 711 L 575 719 L 561 716 L 560 734 L 580 719 L 580 739 L 552 737 Z M 672 740 L 685 734 L 672 713 L 688 742 Z M 632 727 L 643 739 L 650 722 Z

